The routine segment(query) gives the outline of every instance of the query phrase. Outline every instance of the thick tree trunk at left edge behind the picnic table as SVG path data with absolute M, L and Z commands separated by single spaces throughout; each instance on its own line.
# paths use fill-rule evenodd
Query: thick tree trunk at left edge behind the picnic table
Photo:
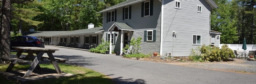
M 10 20 L 12 17 L 12 0 L 2 0 L 0 56 L 10 56 Z

